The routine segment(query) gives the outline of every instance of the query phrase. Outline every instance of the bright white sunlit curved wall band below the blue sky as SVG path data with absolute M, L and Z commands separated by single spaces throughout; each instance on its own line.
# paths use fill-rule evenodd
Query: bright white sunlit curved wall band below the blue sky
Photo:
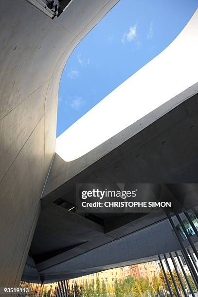
M 166 49 L 57 137 L 55 152 L 73 161 L 167 101 L 163 114 L 180 104 L 173 106 L 171 99 L 198 82 L 197 53 L 198 9 Z

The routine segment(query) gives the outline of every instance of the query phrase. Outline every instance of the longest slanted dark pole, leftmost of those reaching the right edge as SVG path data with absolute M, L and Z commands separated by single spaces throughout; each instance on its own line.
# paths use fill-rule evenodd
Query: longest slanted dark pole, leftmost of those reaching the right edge
M 173 223 L 173 220 L 172 220 L 170 214 L 167 214 L 167 217 L 168 217 L 168 219 L 169 219 L 169 222 L 170 222 L 170 224 L 171 224 L 173 230 L 175 231 L 175 234 L 176 234 L 176 236 L 177 236 L 177 238 L 178 238 L 178 241 L 179 241 L 180 246 L 181 246 L 181 249 L 182 249 L 182 251 L 181 251 L 181 252 L 182 252 L 182 255 L 183 255 L 183 257 L 184 257 L 184 259 L 185 259 L 185 261 L 186 261 L 186 264 L 188 265 L 188 269 L 189 269 L 190 272 L 191 272 L 191 275 L 192 275 L 193 280 L 194 280 L 194 282 L 195 282 L 196 288 L 198 289 L 198 275 L 197 275 L 197 273 L 196 273 L 196 271 L 195 271 L 195 268 L 194 268 L 192 262 L 191 262 L 190 259 L 189 259 L 188 253 L 187 253 L 187 251 L 186 251 L 186 249 L 185 249 L 185 247 L 184 247 L 184 245 L 183 245 L 182 239 L 181 239 L 181 237 L 180 237 L 180 233 L 178 232 L 177 228 L 175 227 L 175 225 L 174 225 L 174 223 Z

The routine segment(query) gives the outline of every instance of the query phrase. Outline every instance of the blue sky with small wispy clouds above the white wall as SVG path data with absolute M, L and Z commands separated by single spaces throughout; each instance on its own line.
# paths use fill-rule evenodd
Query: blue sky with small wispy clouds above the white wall
M 57 136 L 165 49 L 197 7 L 198 0 L 120 0 L 64 68 Z

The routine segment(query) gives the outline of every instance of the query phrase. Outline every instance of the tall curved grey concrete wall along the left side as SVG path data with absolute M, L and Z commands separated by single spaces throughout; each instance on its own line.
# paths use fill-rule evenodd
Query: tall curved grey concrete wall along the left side
M 60 76 L 72 50 L 118 0 L 73 0 L 53 20 L 0 2 L 0 286 L 18 285 L 55 150 Z

